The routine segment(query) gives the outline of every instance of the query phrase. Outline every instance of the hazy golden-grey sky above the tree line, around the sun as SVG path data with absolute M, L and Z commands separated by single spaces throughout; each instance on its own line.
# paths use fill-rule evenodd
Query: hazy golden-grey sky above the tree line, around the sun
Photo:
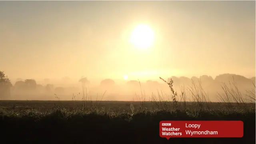
M 129 36 L 155 34 L 148 49 Z M 10 78 L 255 76 L 255 1 L 0 1 Z

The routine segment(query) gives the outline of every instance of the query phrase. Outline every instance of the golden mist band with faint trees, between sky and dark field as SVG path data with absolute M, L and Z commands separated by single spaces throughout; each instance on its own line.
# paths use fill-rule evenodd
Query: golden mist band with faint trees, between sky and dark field
M 246 78 L 235 74 L 220 74 L 216 78 L 206 75 L 199 78 L 172 76 L 165 80 L 169 82 L 171 79 L 178 99 L 182 93 L 186 98 L 180 99 L 182 101 L 194 101 L 193 95 L 199 94 L 211 102 L 221 102 L 219 94 L 225 94 L 225 85 L 229 89 L 238 88 L 244 99 L 249 98 L 246 96 L 249 91 L 255 91 L 255 77 Z M 172 95 L 168 84 L 160 78 L 146 81 L 106 78 L 99 82 L 89 78 L 75 80 L 69 77 L 60 80 L 45 78 L 41 81 L 18 78 L 13 82 L 10 100 L 172 101 Z

